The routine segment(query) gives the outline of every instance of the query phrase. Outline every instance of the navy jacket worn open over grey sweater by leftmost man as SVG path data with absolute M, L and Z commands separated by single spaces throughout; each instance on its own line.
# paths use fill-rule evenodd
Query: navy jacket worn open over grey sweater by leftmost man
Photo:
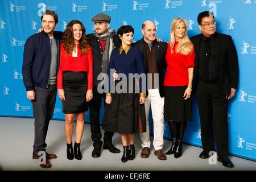
M 59 50 L 60 41 L 56 39 Z M 49 71 L 51 66 L 51 40 L 43 31 L 31 35 L 24 46 L 22 75 L 26 90 L 34 90 L 35 86 L 48 88 Z M 59 68 L 59 51 L 57 55 Z

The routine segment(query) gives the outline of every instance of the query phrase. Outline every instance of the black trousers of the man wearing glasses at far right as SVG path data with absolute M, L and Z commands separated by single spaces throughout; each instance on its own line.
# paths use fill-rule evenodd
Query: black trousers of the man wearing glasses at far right
M 220 85 L 197 81 L 196 100 L 203 150 L 213 150 L 215 137 L 218 156 L 228 156 L 228 99 Z

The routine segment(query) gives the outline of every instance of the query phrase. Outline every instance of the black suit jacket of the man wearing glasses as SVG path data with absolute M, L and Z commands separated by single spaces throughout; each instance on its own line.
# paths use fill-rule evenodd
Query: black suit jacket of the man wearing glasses
M 202 34 L 192 36 L 190 40 L 194 44 L 196 59 L 193 77 L 193 88 L 196 88 L 199 49 Z M 232 37 L 216 32 L 216 60 L 218 61 L 218 82 L 225 95 L 230 93 L 231 88 L 237 89 L 238 84 L 238 59 L 237 51 Z

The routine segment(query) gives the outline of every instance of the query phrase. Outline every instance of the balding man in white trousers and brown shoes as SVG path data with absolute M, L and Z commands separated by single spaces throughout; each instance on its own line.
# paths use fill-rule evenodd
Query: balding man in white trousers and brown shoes
M 164 75 L 163 69 L 166 68 L 167 43 L 156 41 L 156 27 L 153 22 L 146 20 L 142 24 L 143 38 L 138 40 L 134 47 L 142 51 L 143 63 L 146 73 L 152 74 L 147 78 L 147 97 L 144 103 L 147 119 L 147 131 L 141 134 L 142 158 L 150 155 L 150 129 L 148 124 L 148 114 L 151 106 L 152 118 L 154 122 L 154 154 L 159 160 L 166 160 L 163 148 L 164 134 Z M 147 74 L 147 75 L 149 75 Z M 151 79 L 152 78 L 152 79 Z

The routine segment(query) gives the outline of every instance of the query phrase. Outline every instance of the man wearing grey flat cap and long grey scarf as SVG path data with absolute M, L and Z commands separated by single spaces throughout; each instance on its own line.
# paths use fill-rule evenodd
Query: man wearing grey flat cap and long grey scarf
M 102 73 L 108 72 L 109 59 L 114 48 L 120 47 L 120 39 L 115 30 L 109 29 L 110 16 L 104 13 L 97 14 L 92 18 L 94 22 L 94 34 L 86 35 L 90 39 L 90 46 L 93 51 L 93 99 L 89 103 L 90 110 L 90 131 L 92 133 L 93 151 L 92 157 L 101 156 L 101 129 L 100 129 L 100 109 L 102 98 L 105 101 L 105 94 L 99 93 L 97 86 L 100 84 Z M 103 148 L 108 149 L 112 153 L 121 152 L 112 144 L 114 133 L 105 131 Z

